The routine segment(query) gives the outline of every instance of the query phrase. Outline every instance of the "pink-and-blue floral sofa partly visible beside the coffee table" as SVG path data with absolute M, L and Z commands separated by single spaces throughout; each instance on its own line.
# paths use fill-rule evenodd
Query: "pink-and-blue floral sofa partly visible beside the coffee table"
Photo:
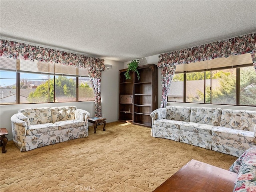
M 256 147 L 249 148 L 229 168 L 237 173 L 233 192 L 256 191 Z

